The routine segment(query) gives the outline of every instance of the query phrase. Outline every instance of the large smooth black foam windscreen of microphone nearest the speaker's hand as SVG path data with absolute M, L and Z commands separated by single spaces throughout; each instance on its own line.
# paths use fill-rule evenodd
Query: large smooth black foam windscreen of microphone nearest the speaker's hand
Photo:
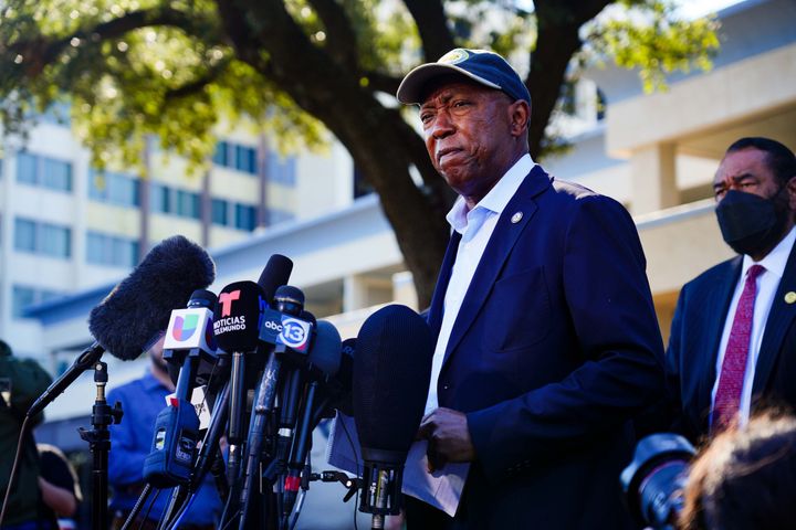
M 352 391 L 363 449 L 406 457 L 428 398 L 433 346 L 426 320 L 406 306 L 386 306 L 365 320 L 356 340 Z

